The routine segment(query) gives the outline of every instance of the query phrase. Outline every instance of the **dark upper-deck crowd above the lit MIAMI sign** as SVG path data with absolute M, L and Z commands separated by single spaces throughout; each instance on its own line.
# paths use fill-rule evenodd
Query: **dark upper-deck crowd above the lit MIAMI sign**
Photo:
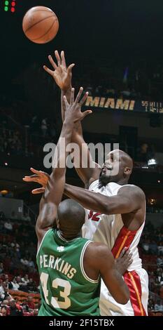
M 101 62 L 101 66 L 93 60 L 83 63 L 74 78 L 77 86 L 82 81 L 82 86 L 90 95 L 106 98 L 162 101 L 162 65 L 149 65 L 146 60 L 128 63 L 126 66 L 120 65 L 120 62 L 115 65 L 114 62 L 108 62 L 108 59 Z

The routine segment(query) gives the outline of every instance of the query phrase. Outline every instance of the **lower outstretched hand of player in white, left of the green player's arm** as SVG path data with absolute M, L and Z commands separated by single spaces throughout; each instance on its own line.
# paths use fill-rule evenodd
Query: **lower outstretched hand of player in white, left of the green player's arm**
M 48 184 L 48 180 L 50 178 L 49 174 L 45 173 L 43 171 L 37 171 L 37 170 L 33 169 L 32 167 L 30 170 L 34 174 L 32 176 L 24 176 L 24 178 L 22 178 L 22 180 L 24 180 L 26 182 L 36 182 L 36 183 L 39 183 L 40 185 L 42 185 L 42 187 L 40 187 L 40 188 L 31 190 L 32 194 L 41 194 L 41 193 L 45 192 L 45 187 Z

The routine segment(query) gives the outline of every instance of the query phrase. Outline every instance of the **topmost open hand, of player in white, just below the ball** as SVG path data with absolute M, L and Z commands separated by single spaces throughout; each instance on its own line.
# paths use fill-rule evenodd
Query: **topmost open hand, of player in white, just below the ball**
M 59 86 L 62 91 L 66 92 L 71 88 L 71 79 L 72 79 L 72 68 L 74 63 L 66 67 L 66 60 L 64 58 L 64 51 L 59 55 L 58 51 L 55 51 L 55 58 L 57 64 L 52 59 L 52 56 L 49 55 L 48 59 L 54 70 L 50 70 L 46 65 L 43 66 L 43 69 L 55 79 L 56 84 Z

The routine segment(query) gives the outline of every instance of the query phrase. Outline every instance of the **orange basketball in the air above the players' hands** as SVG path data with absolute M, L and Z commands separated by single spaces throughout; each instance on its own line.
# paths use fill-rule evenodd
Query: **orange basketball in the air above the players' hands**
M 29 40 L 36 44 L 46 44 L 54 39 L 58 32 L 57 15 L 44 6 L 30 8 L 22 20 L 22 29 Z

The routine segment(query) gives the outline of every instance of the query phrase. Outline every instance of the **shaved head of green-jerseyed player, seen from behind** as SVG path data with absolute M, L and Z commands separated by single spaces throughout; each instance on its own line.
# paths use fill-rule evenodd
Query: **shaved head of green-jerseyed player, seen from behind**
M 65 199 L 59 204 L 57 216 L 64 237 L 76 237 L 85 223 L 85 209 L 73 199 Z

